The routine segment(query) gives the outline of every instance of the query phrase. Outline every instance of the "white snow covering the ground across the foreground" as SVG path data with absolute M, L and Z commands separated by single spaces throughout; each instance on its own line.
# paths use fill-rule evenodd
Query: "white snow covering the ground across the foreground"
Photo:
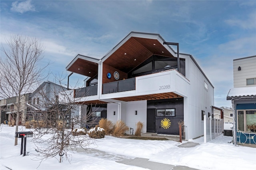
M 20 127 L 19 131 L 29 131 Z M 87 152 L 78 148 L 69 152 L 69 163 L 59 156 L 43 162 L 35 161 L 36 152 L 32 138 L 27 138 L 28 156 L 20 155 L 20 142 L 14 146 L 15 127 L 0 127 L 0 169 L 8 170 L 145 170 L 115 162 L 123 158 L 148 158 L 150 161 L 165 164 L 188 166 L 199 170 L 255 170 L 256 148 L 234 146 L 230 136 L 218 136 L 204 143 L 203 138 L 189 140 L 200 145 L 192 148 L 180 148 L 181 143 L 172 140 L 136 140 L 105 136 L 90 145 Z M 184 141 L 182 143 L 186 143 Z M 8 167 L 8 168 L 6 168 Z

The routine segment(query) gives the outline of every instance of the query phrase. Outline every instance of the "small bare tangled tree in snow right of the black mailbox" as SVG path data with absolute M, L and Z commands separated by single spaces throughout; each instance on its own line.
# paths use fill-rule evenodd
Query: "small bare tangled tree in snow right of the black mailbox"
M 58 84 L 61 85 L 61 81 Z M 52 95 L 47 94 L 49 92 Z M 34 125 L 32 129 L 34 144 L 39 153 L 36 159 L 42 161 L 60 156 L 59 161 L 61 162 L 62 157 L 65 156 L 68 161 L 71 161 L 68 150 L 75 150 L 78 147 L 85 150 L 90 143 L 94 142 L 86 135 L 86 129 L 95 125 L 93 112 L 86 111 L 83 117 L 73 114 L 73 112 L 79 111 L 79 107 L 84 106 L 83 103 L 77 105 L 78 99 L 74 98 L 74 90 L 67 90 L 63 87 L 63 91 L 54 88 L 48 92 L 42 90 L 38 93 L 42 96 L 40 108 L 44 109 L 41 113 L 39 112 L 41 117 L 37 117 L 40 121 L 34 121 L 38 125 Z M 79 130 L 84 128 L 84 131 L 82 133 L 74 132 L 74 126 Z

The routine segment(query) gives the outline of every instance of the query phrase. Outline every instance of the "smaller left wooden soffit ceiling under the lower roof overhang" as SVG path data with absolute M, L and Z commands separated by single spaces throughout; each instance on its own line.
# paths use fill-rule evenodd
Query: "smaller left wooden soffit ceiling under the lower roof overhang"
M 87 77 L 94 77 L 98 74 L 98 63 L 78 58 L 67 70 Z

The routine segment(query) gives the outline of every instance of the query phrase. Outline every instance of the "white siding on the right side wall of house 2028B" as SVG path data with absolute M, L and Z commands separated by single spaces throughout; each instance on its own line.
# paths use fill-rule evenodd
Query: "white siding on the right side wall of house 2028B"
M 190 86 L 189 95 L 184 98 L 184 123 L 186 126 L 186 139 L 204 135 L 204 121 L 201 119 L 202 110 L 205 114 L 212 113 L 214 105 L 214 89 L 202 72 L 190 59 Z M 204 87 L 208 84 L 208 90 Z

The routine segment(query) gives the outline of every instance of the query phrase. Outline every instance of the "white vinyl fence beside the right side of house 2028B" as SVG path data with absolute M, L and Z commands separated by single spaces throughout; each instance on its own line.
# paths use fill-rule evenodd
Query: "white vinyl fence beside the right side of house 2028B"
M 212 119 L 212 117 L 206 117 L 204 115 L 204 143 L 216 138 L 222 134 L 223 131 L 223 119 Z

